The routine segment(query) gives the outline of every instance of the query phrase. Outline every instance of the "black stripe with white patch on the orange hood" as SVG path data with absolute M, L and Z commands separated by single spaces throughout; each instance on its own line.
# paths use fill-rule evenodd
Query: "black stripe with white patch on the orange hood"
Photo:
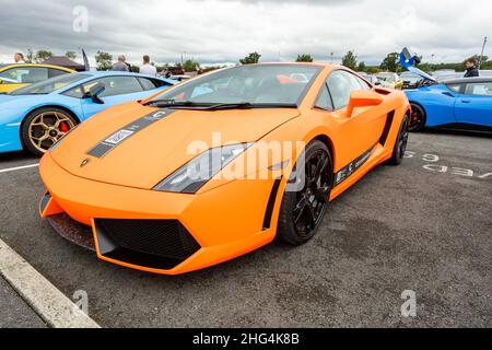
M 173 109 L 160 109 L 157 112 L 152 112 L 133 122 L 122 127 L 121 129 L 115 131 L 103 141 L 97 143 L 94 148 L 92 148 L 87 154 L 95 158 L 103 158 L 108 154 L 110 151 L 116 149 L 119 144 L 121 144 L 125 140 L 133 137 L 137 132 L 145 129 L 147 127 L 157 122 L 161 119 L 164 119 L 175 113 Z

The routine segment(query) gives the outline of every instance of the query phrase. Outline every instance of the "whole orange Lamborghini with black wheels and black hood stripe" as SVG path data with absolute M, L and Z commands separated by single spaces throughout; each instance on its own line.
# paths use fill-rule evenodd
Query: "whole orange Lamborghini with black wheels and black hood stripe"
M 400 164 L 409 114 L 344 67 L 223 69 L 67 135 L 40 163 L 40 214 L 103 260 L 165 275 L 301 245 L 331 200 Z

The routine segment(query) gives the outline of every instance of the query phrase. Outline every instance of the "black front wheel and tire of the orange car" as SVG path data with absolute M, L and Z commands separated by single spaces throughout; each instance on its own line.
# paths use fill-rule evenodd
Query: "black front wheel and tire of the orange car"
M 291 245 L 307 243 L 325 217 L 332 187 L 333 163 L 325 143 L 311 142 L 305 151 L 305 182 L 297 191 L 285 190 L 280 209 L 277 236 Z M 300 177 L 298 175 L 296 177 Z M 290 183 L 296 183 L 298 178 Z

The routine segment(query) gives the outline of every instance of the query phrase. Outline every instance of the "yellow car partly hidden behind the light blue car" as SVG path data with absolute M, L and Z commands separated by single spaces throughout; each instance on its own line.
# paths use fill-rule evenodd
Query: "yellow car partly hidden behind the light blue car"
M 74 70 L 65 67 L 50 65 L 21 63 L 0 66 L 0 93 L 74 72 Z

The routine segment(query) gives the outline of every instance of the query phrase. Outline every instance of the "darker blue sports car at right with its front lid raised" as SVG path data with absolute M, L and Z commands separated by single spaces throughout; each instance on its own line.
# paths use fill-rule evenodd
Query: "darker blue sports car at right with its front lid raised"
M 400 54 L 400 65 L 422 80 L 406 90 L 412 106 L 410 131 L 443 127 L 492 131 L 492 78 L 464 78 L 437 81 L 413 67 L 415 57 Z

